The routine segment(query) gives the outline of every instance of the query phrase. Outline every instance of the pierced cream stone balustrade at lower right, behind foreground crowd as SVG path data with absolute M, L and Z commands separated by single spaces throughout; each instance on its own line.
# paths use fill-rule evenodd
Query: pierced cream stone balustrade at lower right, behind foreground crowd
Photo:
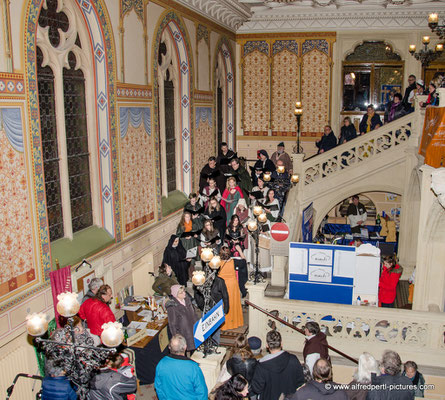
M 379 357 L 386 349 L 399 352 L 404 360 L 418 364 L 443 366 L 445 357 L 443 313 L 400 309 L 327 304 L 264 296 L 264 287 L 249 286 L 249 300 L 267 311 L 278 310 L 278 317 L 302 328 L 316 321 L 326 333 L 330 345 L 357 358 L 368 351 Z M 269 317 L 251 309 L 249 335 L 265 338 Z M 277 323 L 286 348 L 301 352 L 304 337 Z

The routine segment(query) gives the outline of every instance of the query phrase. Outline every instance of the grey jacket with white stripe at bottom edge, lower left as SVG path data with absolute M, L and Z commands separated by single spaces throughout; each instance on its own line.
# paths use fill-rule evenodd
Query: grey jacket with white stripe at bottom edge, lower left
M 117 371 L 104 369 L 90 382 L 89 400 L 122 400 L 136 389 L 136 377 L 129 378 Z

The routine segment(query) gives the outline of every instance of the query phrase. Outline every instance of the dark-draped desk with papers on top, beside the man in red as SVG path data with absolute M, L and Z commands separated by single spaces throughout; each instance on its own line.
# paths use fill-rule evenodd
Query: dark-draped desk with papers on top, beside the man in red
M 137 311 L 126 310 L 124 325 L 128 325 L 131 321 L 142 321 L 143 317 L 139 316 L 138 313 L 143 309 L 144 307 Z M 129 346 L 135 354 L 136 373 L 141 385 L 148 385 L 154 382 L 156 366 L 169 353 L 167 344 L 170 339 L 170 333 L 167 325 L 168 318 L 163 318 L 162 320 L 155 319 L 152 322 L 148 322 L 147 329 L 157 330 L 157 333 Z

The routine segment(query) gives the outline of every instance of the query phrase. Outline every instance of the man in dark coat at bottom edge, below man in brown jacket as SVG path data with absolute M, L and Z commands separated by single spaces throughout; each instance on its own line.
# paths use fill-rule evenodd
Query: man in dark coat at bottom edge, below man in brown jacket
M 300 387 L 289 400 L 348 400 L 346 392 L 332 381 L 332 366 L 328 360 L 320 358 L 314 365 L 314 379 Z

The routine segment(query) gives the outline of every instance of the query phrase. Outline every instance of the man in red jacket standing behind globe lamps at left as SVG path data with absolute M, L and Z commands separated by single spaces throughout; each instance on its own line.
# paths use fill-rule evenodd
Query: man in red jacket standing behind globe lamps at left
M 80 306 L 79 317 L 86 319 L 88 328 L 93 335 L 100 337 L 102 325 L 107 322 L 115 322 L 113 312 L 109 304 L 113 298 L 113 292 L 108 285 L 102 285 L 95 297 L 88 299 Z

